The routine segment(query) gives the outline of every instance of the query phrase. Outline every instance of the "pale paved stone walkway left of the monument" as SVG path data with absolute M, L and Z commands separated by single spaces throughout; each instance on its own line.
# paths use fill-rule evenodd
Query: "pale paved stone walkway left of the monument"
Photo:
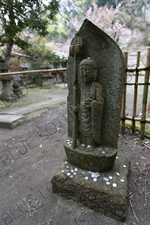
M 66 103 L 67 89 L 58 89 L 51 91 L 50 93 L 34 93 L 35 96 L 30 96 L 30 92 L 24 98 L 27 98 L 29 101 L 32 98 L 35 98 L 36 101 L 30 104 L 24 104 L 18 102 L 18 106 L 13 106 L 1 108 L 0 110 L 0 127 L 13 129 L 23 121 L 32 119 L 34 117 L 40 116 L 41 113 L 47 111 L 51 107 L 61 105 Z M 42 96 L 42 101 L 40 96 Z M 45 95 L 45 99 L 44 96 Z M 51 96 L 51 97 L 48 97 Z M 18 101 L 25 101 L 25 99 L 20 99 Z M 28 100 L 29 99 L 29 100 Z M 49 99 L 49 100 L 47 100 Z

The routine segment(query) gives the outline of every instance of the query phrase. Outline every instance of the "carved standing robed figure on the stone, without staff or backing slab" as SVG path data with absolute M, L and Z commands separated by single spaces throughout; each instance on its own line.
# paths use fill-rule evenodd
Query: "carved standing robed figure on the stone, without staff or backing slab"
M 102 85 L 96 81 L 97 66 L 93 59 L 87 58 L 80 63 L 82 77 L 79 106 L 79 143 L 80 149 L 91 151 L 101 144 L 101 120 L 103 112 Z

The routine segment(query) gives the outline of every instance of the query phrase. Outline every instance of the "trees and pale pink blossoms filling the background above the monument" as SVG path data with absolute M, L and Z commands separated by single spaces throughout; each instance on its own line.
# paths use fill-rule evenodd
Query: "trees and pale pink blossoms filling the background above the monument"
M 1 0 L 2 55 L 9 60 L 12 50 L 25 53 L 33 68 L 45 59 L 57 61 L 53 50 L 67 53 L 85 18 L 122 49 L 150 46 L 150 0 Z

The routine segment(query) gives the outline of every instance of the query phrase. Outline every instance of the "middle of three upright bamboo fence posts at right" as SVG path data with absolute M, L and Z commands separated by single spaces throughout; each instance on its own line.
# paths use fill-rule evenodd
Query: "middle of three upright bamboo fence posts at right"
M 136 69 L 139 67 L 140 64 L 140 54 L 141 52 L 137 52 L 137 57 L 136 57 Z M 135 85 L 134 85 L 134 99 L 133 99 L 133 112 L 132 112 L 132 133 L 135 132 L 135 116 L 136 116 L 136 108 L 137 108 L 137 93 L 138 93 L 138 78 L 139 78 L 139 71 L 136 70 L 135 73 Z

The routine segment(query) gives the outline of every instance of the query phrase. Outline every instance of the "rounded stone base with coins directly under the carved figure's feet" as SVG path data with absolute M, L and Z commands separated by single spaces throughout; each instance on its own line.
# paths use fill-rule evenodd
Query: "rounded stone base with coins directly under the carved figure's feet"
M 78 144 L 73 149 L 72 142 L 71 138 L 67 138 L 63 143 L 68 162 L 72 165 L 95 172 L 106 172 L 113 167 L 118 149 L 106 146 L 94 148 L 84 144 Z

